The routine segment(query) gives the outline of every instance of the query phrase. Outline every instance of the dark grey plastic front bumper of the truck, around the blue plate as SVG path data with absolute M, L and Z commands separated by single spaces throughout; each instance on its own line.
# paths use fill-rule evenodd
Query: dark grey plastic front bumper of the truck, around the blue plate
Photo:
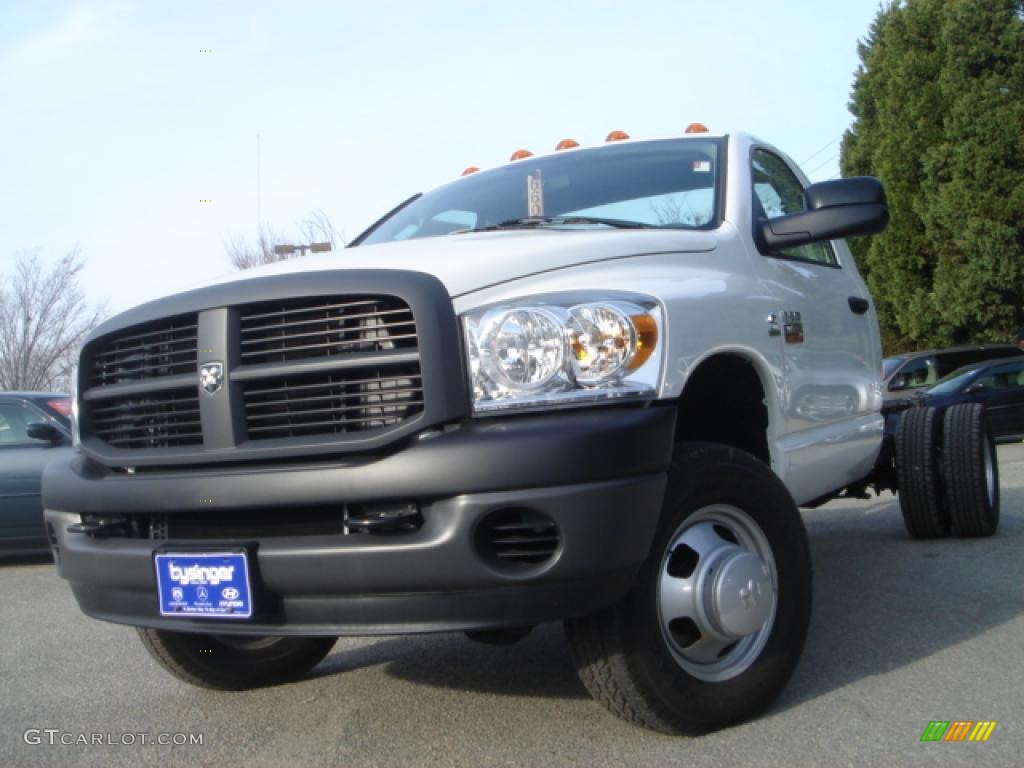
M 113 473 L 51 465 L 43 501 L 61 575 L 97 618 L 190 632 L 362 635 L 484 629 L 564 618 L 613 602 L 650 548 L 674 410 L 613 408 L 479 421 L 378 458 L 273 467 Z M 69 532 L 82 513 L 195 514 L 415 502 L 422 526 L 372 535 L 176 542 Z M 201 506 L 205 505 L 205 506 Z M 554 555 L 505 567 L 476 531 L 496 510 L 555 522 Z M 283 513 L 287 514 L 287 513 Z M 224 544 L 251 553 L 251 621 L 162 617 L 158 549 Z

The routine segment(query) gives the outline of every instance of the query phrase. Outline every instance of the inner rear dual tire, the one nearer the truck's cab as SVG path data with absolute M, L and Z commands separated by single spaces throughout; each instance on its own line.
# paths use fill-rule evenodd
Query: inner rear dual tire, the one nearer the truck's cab
M 949 515 L 939 477 L 939 413 L 911 408 L 896 427 L 896 477 L 903 524 L 914 539 L 949 532 Z

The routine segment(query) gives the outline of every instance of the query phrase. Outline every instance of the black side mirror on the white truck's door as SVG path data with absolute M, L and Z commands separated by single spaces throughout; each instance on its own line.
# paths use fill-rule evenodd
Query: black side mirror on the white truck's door
M 873 176 L 811 184 L 804 198 L 807 210 L 757 221 L 754 237 L 762 253 L 855 234 L 876 234 L 889 223 L 886 193 Z

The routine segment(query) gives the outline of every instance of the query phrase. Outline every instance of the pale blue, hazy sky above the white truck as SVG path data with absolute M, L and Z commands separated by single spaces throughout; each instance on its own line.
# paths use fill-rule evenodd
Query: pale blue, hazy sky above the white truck
M 823 180 L 878 8 L 0 0 L 0 275 L 79 248 L 117 312 L 230 271 L 260 221 L 352 239 L 466 166 L 613 129 L 745 130 Z

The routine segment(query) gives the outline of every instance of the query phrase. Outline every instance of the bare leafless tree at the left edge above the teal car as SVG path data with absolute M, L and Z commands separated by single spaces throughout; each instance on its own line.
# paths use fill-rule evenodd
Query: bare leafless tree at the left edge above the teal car
M 36 252 L 18 254 L 0 281 L 0 389 L 67 389 L 78 348 L 105 314 L 79 286 L 78 249 L 49 269 Z

